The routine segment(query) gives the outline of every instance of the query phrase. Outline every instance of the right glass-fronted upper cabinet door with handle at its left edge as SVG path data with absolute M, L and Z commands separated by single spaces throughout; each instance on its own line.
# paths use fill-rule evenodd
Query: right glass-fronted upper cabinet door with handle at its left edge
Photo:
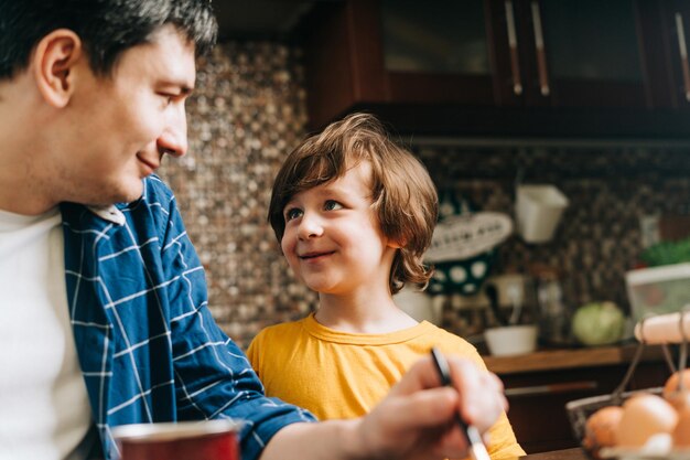
M 519 36 L 527 42 L 526 104 L 559 107 L 654 105 L 648 97 L 650 82 L 645 78 L 645 57 L 647 35 L 655 33 L 655 28 L 649 17 L 639 14 L 640 2 L 515 2 L 522 13 Z

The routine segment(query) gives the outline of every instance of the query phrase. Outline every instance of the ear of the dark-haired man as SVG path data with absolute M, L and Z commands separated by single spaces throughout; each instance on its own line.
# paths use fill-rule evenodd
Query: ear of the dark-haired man
M 79 36 L 68 29 L 45 35 L 32 55 L 36 85 L 43 98 L 54 107 L 65 107 L 74 93 L 75 64 L 84 57 Z

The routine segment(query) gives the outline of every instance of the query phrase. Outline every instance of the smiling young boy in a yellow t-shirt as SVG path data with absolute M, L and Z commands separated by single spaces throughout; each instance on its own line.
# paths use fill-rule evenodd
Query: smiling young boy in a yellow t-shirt
M 463 339 L 400 310 L 393 293 L 431 276 L 422 256 L 438 197 L 424 167 L 354 114 L 308 138 L 273 184 L 269 220 L 319 309 L 261 331 L 249 360 L 269 396 L 320 419 L 369 411 L 420 356 L 438 346 L 485 367 Z M 493 459 L 522 456 L 505 414 L 490 429 Z

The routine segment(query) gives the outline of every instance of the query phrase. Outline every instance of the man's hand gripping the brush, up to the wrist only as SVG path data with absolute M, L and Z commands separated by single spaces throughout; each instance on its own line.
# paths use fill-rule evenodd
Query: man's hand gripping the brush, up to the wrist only
M 441 387 L 433 363 L 424 359 L 359 420 L 366 458 L 462 458 L 467 442 L 455 413 L 481 432 L 496 422 L 508 407 L 498 377 L 468 360 L 449 357 L 449 364 L 456 388 Z

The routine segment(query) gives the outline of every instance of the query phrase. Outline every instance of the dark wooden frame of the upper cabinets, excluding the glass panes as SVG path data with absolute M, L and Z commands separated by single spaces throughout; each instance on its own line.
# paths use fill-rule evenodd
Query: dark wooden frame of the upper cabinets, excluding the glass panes
M 531 1 L 511 0 L 521 94 L 514 90 L 505 0 L 484 1 L 492 69 L 485 76 L 390 72 L 384 63 L 377 0 L 317 4 L 301 28 L 310 128 L 320 129 L 354 110 L 369 110 L 401 133 L 690 138 L 690 103 L 684 98 L 672 22 L 673 11 L 690 11 L 686 4 L 690 2 L 630 0 L 643 82 L 551 79 L 545 96 Z M 690 39 L 690 29 L 687 33 Z M 547 43 L 547 58 L 548 53 Z

